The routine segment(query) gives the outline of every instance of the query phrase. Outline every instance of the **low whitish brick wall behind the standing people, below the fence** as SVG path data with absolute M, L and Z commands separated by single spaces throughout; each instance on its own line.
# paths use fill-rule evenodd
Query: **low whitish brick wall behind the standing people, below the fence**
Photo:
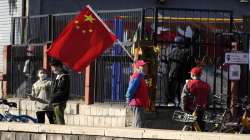
M 8 101 L 17 103 L 17 108 L 10 109 L 11 113 L 36 117 L 34 101 L 23 98 L 10 98 Z M 0 113 L 3 113 L 6 109 L 6 105 L 0 105 Z M 130 125 L 131 120 L 128 110 L 125 105 L 85 105 L 82 100 L 68 101 L 64 114 L 65 123 L 81 126 L 126 127 Z M 48 124 L 47 118 L 46 123 Z

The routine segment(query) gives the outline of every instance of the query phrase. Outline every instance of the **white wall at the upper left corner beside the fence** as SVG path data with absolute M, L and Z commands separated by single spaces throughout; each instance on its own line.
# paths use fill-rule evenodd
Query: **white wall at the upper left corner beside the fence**
M 9 0 L 0 0 L 0 72 L 3 68 L 3 46 L 11 44 L 11 17 L 22 16 L 22 0 L 16 0 L 10 13 Z

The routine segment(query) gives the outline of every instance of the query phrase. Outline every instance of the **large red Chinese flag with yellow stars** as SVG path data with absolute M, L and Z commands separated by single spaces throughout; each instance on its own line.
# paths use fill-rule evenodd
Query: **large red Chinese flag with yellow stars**
M 65 27 L 47 54 L 61 60 L 71 69 L 81 72 L 115 41 L 116 36 L 87 5 Z

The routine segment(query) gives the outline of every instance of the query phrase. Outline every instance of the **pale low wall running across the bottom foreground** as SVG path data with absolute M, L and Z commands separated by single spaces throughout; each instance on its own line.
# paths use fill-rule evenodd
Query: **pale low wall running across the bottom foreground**
M 1 140 L 249 140 L 250 135 L 162 129 L 0 123 Z

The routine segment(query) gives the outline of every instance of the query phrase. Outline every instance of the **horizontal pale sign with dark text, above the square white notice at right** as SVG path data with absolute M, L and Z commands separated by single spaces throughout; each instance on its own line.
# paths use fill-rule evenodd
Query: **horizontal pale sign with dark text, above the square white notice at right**
M 225 54 L 225 63 L 229 64 L 248 64 L 248 53 L 230 52 Z

